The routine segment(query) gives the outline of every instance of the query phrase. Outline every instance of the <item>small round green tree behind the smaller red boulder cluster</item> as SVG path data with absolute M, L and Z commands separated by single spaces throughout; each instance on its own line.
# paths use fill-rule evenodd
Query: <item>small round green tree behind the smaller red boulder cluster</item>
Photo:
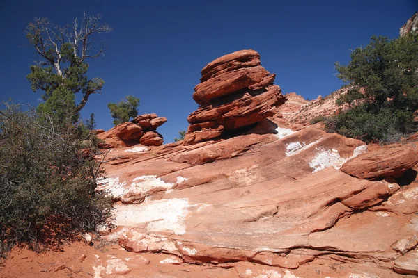
M 127 95 L 125 99 L 116 103 L 107 104 L 111 117 L 114 118 L 114 125 L 129 122 L 130 118 L 138 115 L 139 98 Z

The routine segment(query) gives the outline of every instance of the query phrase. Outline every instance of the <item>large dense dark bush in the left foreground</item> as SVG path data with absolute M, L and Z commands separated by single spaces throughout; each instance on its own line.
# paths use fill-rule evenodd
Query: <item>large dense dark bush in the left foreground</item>
M 3 248 L 57 242 L 95 229 L 110 213 L 110 199 L 95 192 L 102 174 L 98 162 L 81 152 L 85 127 L 56 131 L 52 123 L 43 124 L 33 109 L 6 104 L 0 111 Z

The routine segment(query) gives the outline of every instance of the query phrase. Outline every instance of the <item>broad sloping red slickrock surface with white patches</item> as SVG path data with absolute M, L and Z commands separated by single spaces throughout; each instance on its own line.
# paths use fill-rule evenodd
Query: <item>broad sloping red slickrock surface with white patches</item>
M 121 203 L 116 229 L 105 237 L 130 252 L 169 254 L 164 262 L 173 265 L 238 272 L 225 277 L 309 277 L 314 268 L 330 277 L 414 271 L 401 268 L 411 268 L 418 241 L 418 184 L 400 187 L 340 170 L 364 152 L 359 140 L 280 127 L 276 135 L 175 143 L 141 155 L 115 149 L 100 189 Z M 322 272 L 323 260 L 341 267 Z M 255 265 L 242 270 L 241 263 Z

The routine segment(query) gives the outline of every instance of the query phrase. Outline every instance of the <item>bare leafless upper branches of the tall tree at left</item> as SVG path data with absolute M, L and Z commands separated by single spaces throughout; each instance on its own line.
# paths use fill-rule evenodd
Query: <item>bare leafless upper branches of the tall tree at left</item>
M 31 47 L 36 49 L 39 59 L 38 67 L 52 66 L 54 73 L 61 76 L 62 81 L 68 79 L 74 70 L 70 67 L 85 64 L 88 58 L 103 58 L 107 44 L 102 40 L 97 49 L 93 49 L 96 35 L 109 33 L 112 28 L 108 24 L 101 24 L 101 15 L 83 13 L 82 18 L 77 17 L 70 24 L 57 26 L 47 18 L 36 18 L 25 29 L 26 38 Z M 42 84 L 42 82 L 38 83 Z M 91 94 L 101 92 L 104 81 L 93 78 L 86 82 L 82 101 L 76 106 L 74 113 L 78 113 L 86 104 Z M 44 90 L 45 86 L 35 86 Z

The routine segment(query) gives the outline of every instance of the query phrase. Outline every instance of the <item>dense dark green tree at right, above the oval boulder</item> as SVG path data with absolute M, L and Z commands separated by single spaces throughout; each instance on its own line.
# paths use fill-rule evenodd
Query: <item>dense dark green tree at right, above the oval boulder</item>
M 353 89 L 337 104 L 350 104 L 325 122 L 327 130 L 366 142 L 392 142 L 414 131 L 418 109 L 418 35 L 388 40 L 372 37 L 351 54 L 348 65 L 336 63 L 339 78 Z M 357 88 L 364 88 L 364 94 Z M 362 99 L 361 101 L 356 101 Z

